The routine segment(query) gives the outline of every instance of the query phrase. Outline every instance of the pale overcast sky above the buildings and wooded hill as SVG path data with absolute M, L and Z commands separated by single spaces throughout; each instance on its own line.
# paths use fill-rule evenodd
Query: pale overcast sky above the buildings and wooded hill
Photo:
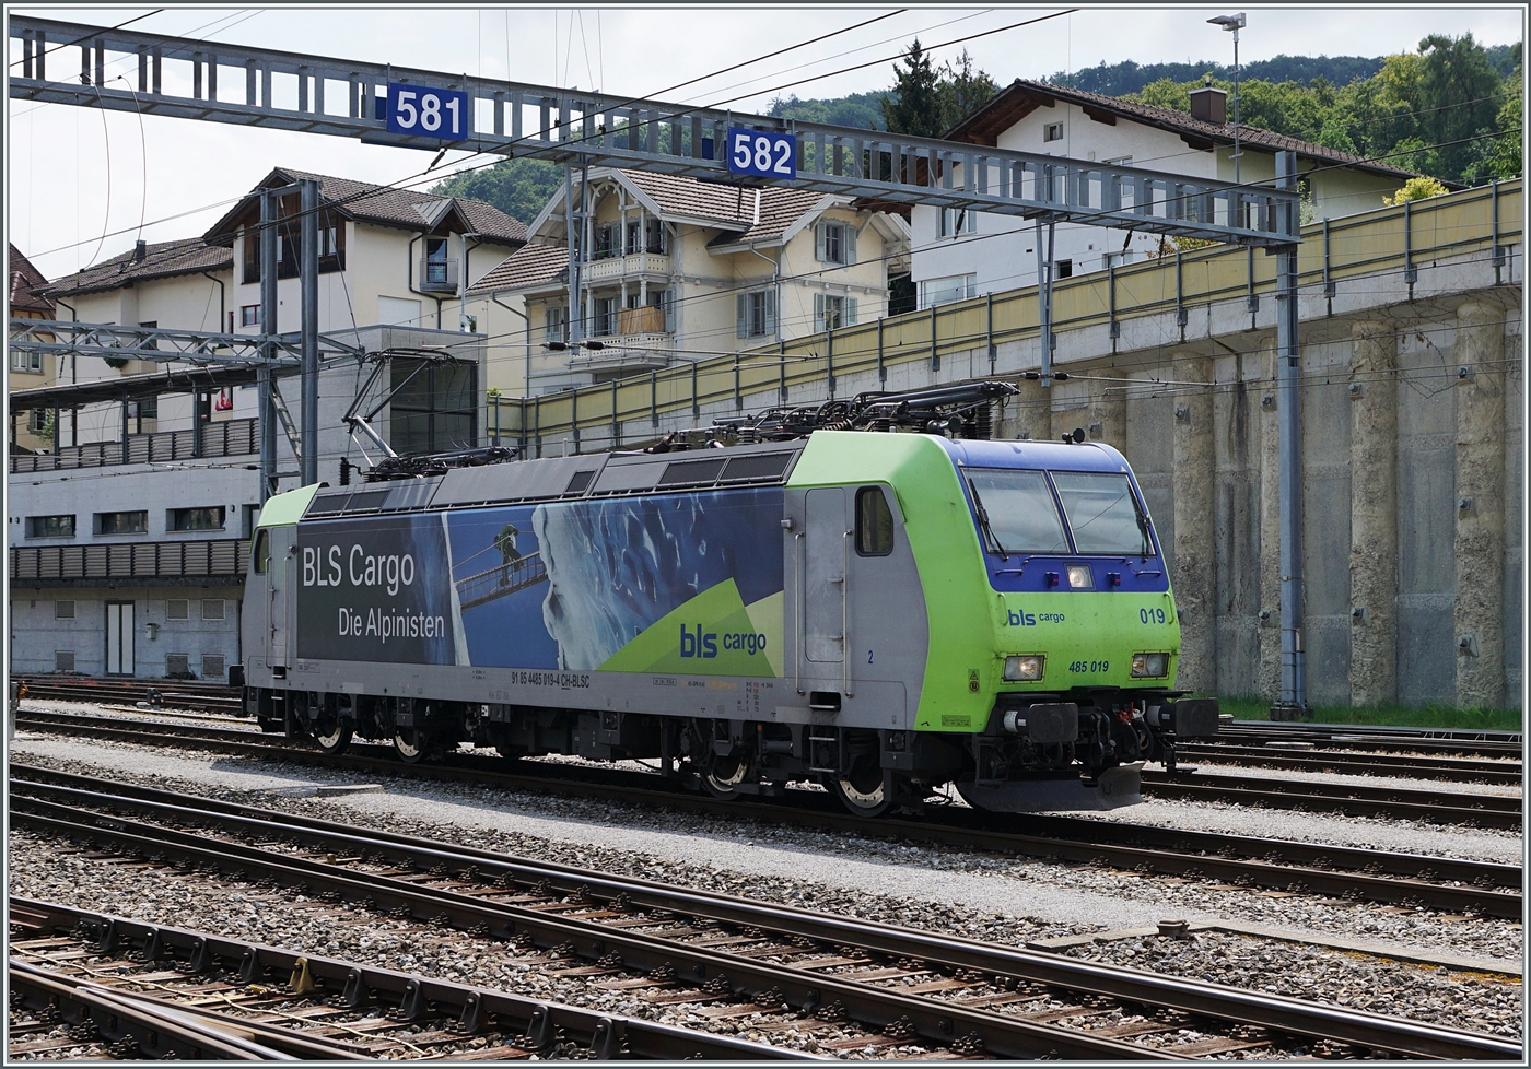
M 1232 60 L 1231 35 L 1206 18 L 1243 9 L 1243 63 L 1275 55 L 1384 55 L 1418 47 L 1428 34 L 1471 31 L 1485 44 L 1522 37 L 1520 8 L 1104 8 L 1029 26 L 1014 23 L 1066 8 L 908 8 L 828 40 L 674 92 L 672 86 L 899 11 L 880 6 L 759 8 L 11 8 L 86 24 L 133 23 L 158 34 L 204 37 L 289 52 L 397 63 L 484 78 L 602 89 L 766 110 L 776 95 L 841 96 L 886 89 L 886 57 L 919 37 L 937 61 L 963 47 L 998 83 L 1044 78 L 1099 63 Z M 998 31 L 998 32 L 995 32 Z M 980 34 L 974 40 L 957 41 Z M 63 69 L 78 52 L 61 58 Z M 12 72 L 20 44 L 11 43 Z M 856 64 L 873 66 L 837 73 Z M 52 67 L 51 69 L 57 69 Z M 107 70 L 132 73 L 124 64 Z M 136 80 L 135 80 L 136 81 Z M 785 89 L 776 89 L 796 83 Z M 110 83 L 109 83 L 110 84 Z M 240 90 L 242 92 L 242 90 Z M 237 99 L 237 98 L 236 98 Z M 273 167 L 366 182 L 418 176 L 430 156 L 341 138 L 279 133 L 213 122 L 101 113 L 57 104 L 9 102 L 6 130 L 8 237 L 55 278 L 132 248 L 201 234 L 231 199 Z M 465 153 L 449 153 L 450 174 Z M 147 179 L 147 180 L 145 180 Z M 147 191 L 145 191 L 147 187 Z M 199 210 L 199 211 L 197 211 Z M 191 213 L 191 214 L 187 214 Z M 170 219 L 178 216 L 176 219 Z M 122 232 L 113 232 L 122 231 Z

